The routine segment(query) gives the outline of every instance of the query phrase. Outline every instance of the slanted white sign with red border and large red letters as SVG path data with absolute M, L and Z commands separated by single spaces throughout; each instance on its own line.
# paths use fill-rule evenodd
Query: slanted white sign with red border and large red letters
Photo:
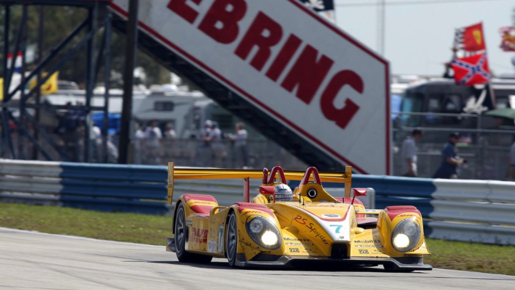
M 128 0 L 112 9 L 127 17 Z M 388 62 L 297 0 L 140 0 L 140 28 L 360 173 L 390 172 Z

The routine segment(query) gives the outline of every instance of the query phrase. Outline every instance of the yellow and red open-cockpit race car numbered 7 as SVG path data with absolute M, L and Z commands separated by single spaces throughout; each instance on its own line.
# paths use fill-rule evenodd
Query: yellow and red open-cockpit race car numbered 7
M 331 261 L 383 265 L 389 271 L 431 270 L 423 263 L 430 252 L 417 208 L 367 209 L 355 199 L 366 196 L 366 188 L 352 189 L 351 175 L 350 166 L 343 173 L 322 173 L 315 167 L 302 172 L 280 166 L 263 171 L 174 169 L 169 163 L 168 204 L 177 179 L 242 179 L 243 201 L 220 206 L 210 195 L 180 196 L 166 249 L 180 262 L 226 257 L 232 267 Z M 252 200 L 250 179 L 262 180 Z M 300 183 L 291 190 L 288 181 Z M 332 197 L 322 182 L 345 184 L 344 197 Z

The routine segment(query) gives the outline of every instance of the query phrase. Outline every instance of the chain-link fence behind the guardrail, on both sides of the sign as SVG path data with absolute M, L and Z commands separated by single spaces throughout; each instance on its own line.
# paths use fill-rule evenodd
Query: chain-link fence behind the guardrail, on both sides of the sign
M 459 132 L 461 138 L 456 145 L 456 151 L 460 157 L 466 160 L 466 163 L 458 166 L 460 179 L 509 180 L 506 171 L 510 147 L 515 136 L 513 126 L 485 129 L 480 124 L 476 124 L 477 127 L 474 128 L 470 125 L 474 117 L 469 115 L 461 119 L 459 119 L 459 116 L 416 116 L 419 119 L 424 117 L 425 121 L 430 120 L 435 124 L 448 123 L 448 125 L 440 127 L 411 126 L 421 124 L 420 122 L 412 122 L 414 120 L 413 116 L 405 118 L 404 121 L 399 121 L 400 119 L 394 121 L 392 128 L 393 175 L 403 175 L 403 172 L 401 172 L 403 160 L 400 156 L 403 140 L 410 135 L 414 128 L 420 128 L 424 135 L 417 142 L 418 176 L 426 178 L 433 176 L 441 163 L 441 151 L 448 140 L 449 133 Z M 476 122 L 482 122 L 479 118 L 475 119 Z M 460 124 L 459 120 L 467 121 L 467 126 Z M 485 121 L 483 121 L 483 125 L 484 123 Z M 75 138 L 77 142 L 64 138 L 62 134 L 48 132 L 48 135 L 54 140 L 54 145 L 51 145 L 44 138 L 40 138 L 40 143 L 53 160 L 83 162 L 81 159 L 84 150 L 82 128 L 77 129 L 76 135 L 78 137 Z M 31 159 L 32 143 L 27 141 L 24 144 L 18 144 L 16 131 L 13 131 L 11 139 L 15 148 L 23 147 L 24 158 Z M 130 151 L 129 160 L 132 160 L 133 164 L 144 165 L 165 165 L 168 161 L 174 160 L 178 166 L 221 168 L 261 169 L 281 165 L 291 170 L 305 170 L 308 166 L 275 142 L 261 138 L 249 138 L 247 140 L 247 162 L 242 160 L 242 154 L 238 152 L 239 149 L 234 146 L 234 141 L 230 138 L 222 139 L 216 150 L 211 146 L 206 146 L 205 142 L 199 139 L 162 138 L 157 141 L 156 146 L 156 140 L 133 140 L 134 146 Z M 149 146 L 149 142 L 154 144 Z M 107 162 L 116 163 L 116 135 L 110 137 L 108 145 Z M 101 140 L 92 139 L 91 147 L 91 161 L 104 163 Z M 68 158 L 63 158 L 63 152 Z M 40 154 L 38 159 L 44 160 L 44 157 Z

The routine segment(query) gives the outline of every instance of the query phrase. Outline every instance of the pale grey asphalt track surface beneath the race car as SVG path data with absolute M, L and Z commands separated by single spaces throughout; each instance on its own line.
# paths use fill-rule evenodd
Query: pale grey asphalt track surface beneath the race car
M 183 264 L 163 246 L 0 228 L 0 288 L 8 289 L 515 289 L 515 276 L 434 269 L 388 273 L 231 269 Z

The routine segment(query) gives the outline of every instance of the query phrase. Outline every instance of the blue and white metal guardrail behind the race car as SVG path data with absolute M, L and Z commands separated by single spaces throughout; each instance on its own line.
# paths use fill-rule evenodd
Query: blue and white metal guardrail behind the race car
M 165 166 L 102 165 L 0 159 L 0 201 L 88 210 L 168 214 Z M 257 192 L 260 180 L 252 180 Z M 415 205 L 426 236 L 515 245 L 515 182 L 353 175 L 354 187 L 375 190 L 375 208 Z M 295 186 L 292 183 L 292 186 Z M 339 192 L 328 184 L 328 191 Z M 331 188 L 333 187 L 333 188 Z M 176 195 L 240 200 L 243 181 L 177 180 Z

